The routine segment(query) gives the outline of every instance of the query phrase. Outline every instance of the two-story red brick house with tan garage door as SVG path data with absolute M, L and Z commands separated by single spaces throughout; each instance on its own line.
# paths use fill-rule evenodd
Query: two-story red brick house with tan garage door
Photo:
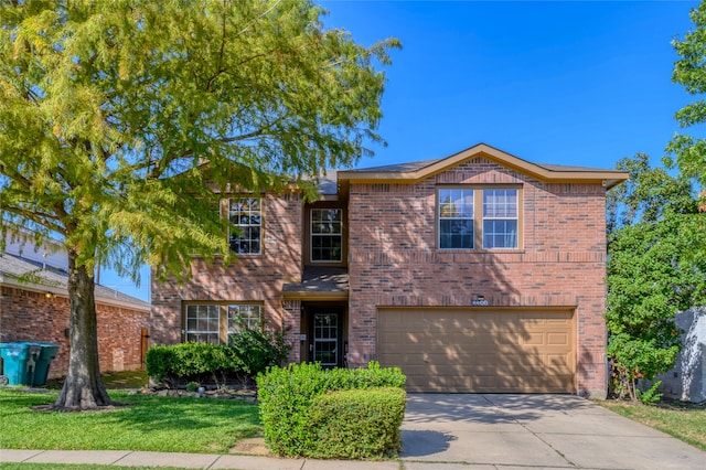
M 152 280 L 152 340 L 288 331 L 293 362 L 400 366 L 411 392 L 605 397 L 606 190 L 628 173 L 486 145 L 329 172 L 321 199 L 231 194 L 238 260 Z

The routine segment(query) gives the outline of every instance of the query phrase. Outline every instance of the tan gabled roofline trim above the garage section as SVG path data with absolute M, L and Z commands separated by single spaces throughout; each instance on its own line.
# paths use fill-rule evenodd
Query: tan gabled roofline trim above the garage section
M 488 146 L 485 143 L 478 143 L 450 157 L 432 162 L 431 164 L 416 171 L 395 172 L 341 170 L 338 172 L 338 178 L 339 181 L 349 181 L 355 183 L 370 183 L 379 181 L 416 182 L 424 178 L 440 173 L 449 167 L 453 167 L 463 160 L 474 157 L 484 157 L 490 160 L 494 160 L 502 163 L 504 167 L 513 168 L 522 173 L 530 174 L 537 178 L 538 180 L 546 182 L 593 182 L 601 183 L 603 188 L 610 189 L 617 184 L 622 183 L 623 181 L 627 181 L 630 177 L 630 173 L 618 170 L 548 170 L 542 165 L 528 162 L 494 147 Z

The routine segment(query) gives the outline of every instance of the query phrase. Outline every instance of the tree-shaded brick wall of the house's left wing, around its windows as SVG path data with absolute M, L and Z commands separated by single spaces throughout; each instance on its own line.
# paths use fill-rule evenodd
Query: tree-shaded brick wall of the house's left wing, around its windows
M 268 194 L 263 201 L 263 254 L 240 255 L 229 266 L 216 260 L 207 266 L 195 259 L 192 279 L 183 286 L 173 280 L 161 282 L 152 276 L 153 344 L 182 341 L 184 301 L 257 301 L 264 317 L 274 325 L 289 329 L 288 340 L 298 345 L 299 302 L 282 305 L 282 285 L 300 282 L 302 271 L 302 203 L 298 193 Z M 286 307 L 286 308 L 285 308 Z M 292 349 L 290 360 L 299 360 Z

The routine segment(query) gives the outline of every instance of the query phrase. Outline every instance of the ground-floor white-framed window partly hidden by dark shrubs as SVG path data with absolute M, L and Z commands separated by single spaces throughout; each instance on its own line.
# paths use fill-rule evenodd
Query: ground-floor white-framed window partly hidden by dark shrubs
M 184 311 L 184 341 L 227 343 L 229 335 L 244 328 L 259 328 L 261 311 L 259 303 L 190 303 Z

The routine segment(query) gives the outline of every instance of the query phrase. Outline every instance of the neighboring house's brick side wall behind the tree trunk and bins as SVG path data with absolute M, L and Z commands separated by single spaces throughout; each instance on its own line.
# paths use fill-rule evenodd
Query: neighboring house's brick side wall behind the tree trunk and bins
M 58 344 L 50 377 L 68 370 L 68 298 L 47 299 L 43 292 L 2 287 L 0 342 L 49 341 Z M 135 371 L 141 367 L 141 329 L 149 328 L 150 312 L 96 302 L 98 355 L 101 371 Z

